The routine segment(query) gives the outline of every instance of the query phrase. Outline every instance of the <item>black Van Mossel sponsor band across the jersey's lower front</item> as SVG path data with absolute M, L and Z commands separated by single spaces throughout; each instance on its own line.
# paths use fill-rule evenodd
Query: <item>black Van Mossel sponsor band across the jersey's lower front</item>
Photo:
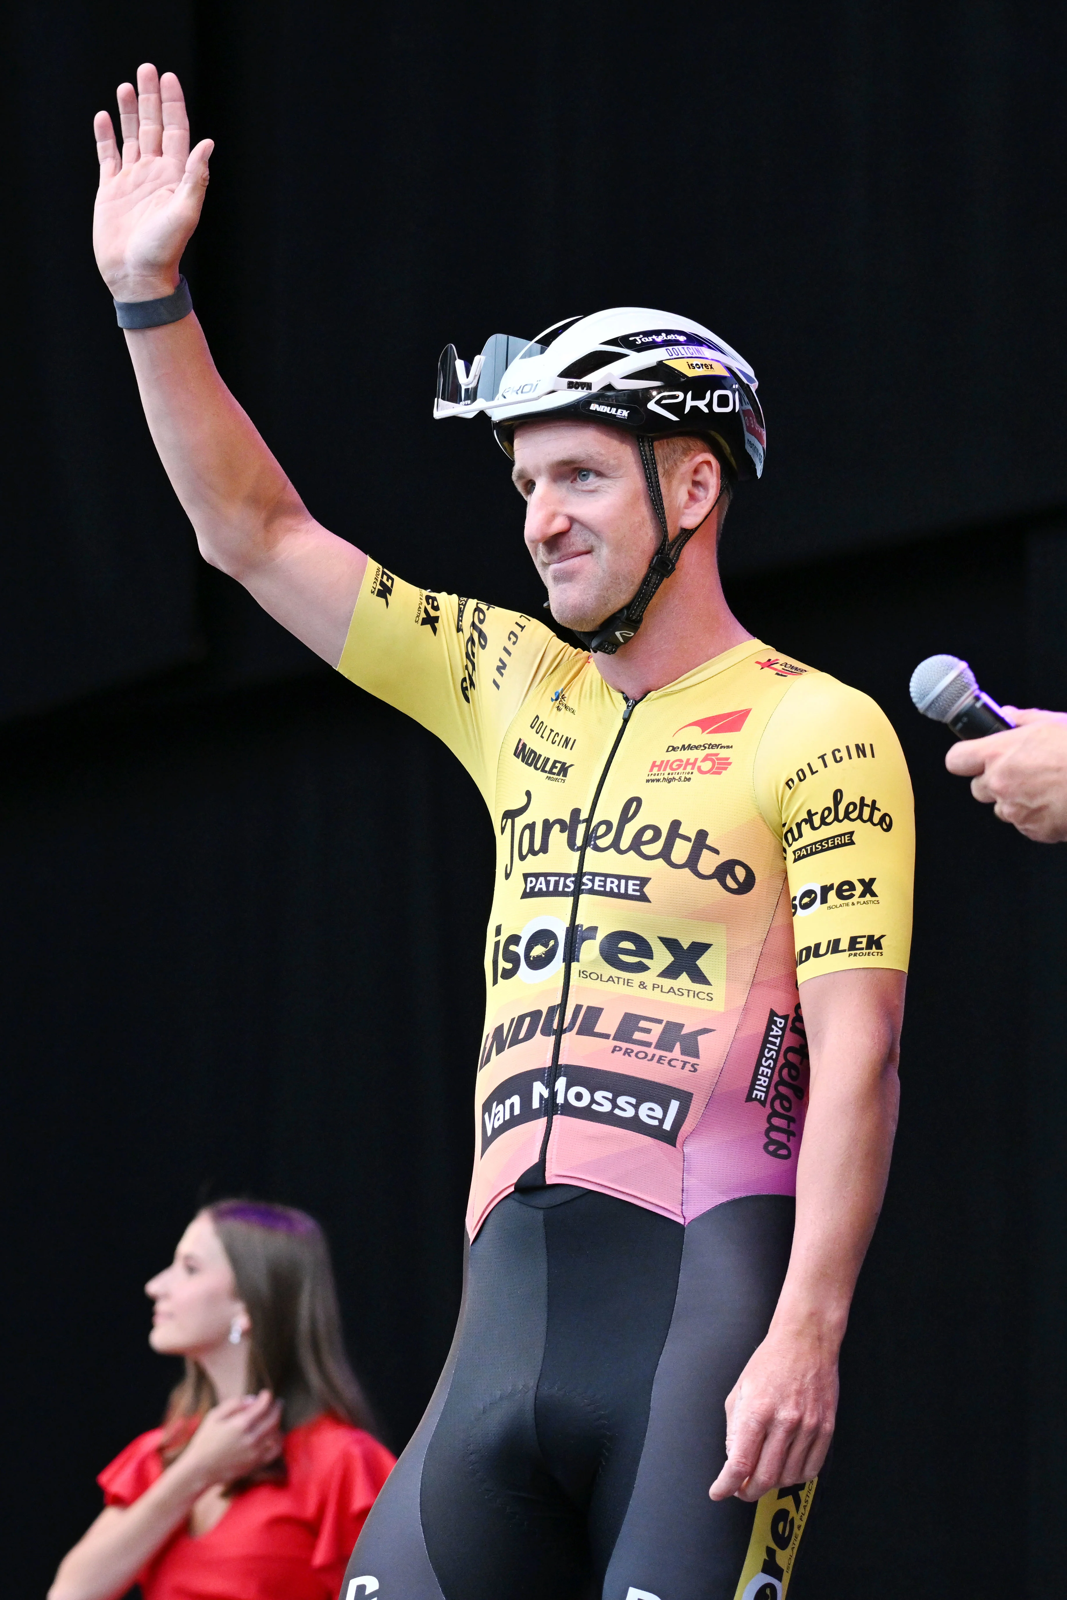
M 549 1114 L 547 1067 L 517 1072 L 486 1094 L 480 1107 L 482 1155 L 509 1128 L 541 1122 Z M 689 1115 L 693 1093 L 673 1083 L 605 1072 L 600 1067 L 560 1066 L 555 1082 L 555 1115 L 598 1122 L 608 1128 L 677 1146 Z

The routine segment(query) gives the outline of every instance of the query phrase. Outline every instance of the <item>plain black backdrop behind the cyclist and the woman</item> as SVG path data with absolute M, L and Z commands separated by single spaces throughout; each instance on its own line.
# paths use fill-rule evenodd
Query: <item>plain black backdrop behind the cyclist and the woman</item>
M 198 566 L 88 248 L 90 120 L 139 59 L 218 141 L 186 262 L 317 515 L 537 603 L 437 350 L 611 302 L 752 358 L 768 478 L 739 616 L 873 693 L 920 818 L 904 1115 L 795 1594 L 1054 1594 L 1067 867 L 973 806 L 923 654 L 1067 704 L 1067 8 L 947 0 L 368 8 L 43 0 L 6 16 L 0 589 L 8 1586 L 171 1374 L 139 1285 L 198 1198 L 331 1230 L 389 1440 L 458 1304 L 490 829 L 422 730 Z M 459 1000 L 456 1000 L 459 997 Z

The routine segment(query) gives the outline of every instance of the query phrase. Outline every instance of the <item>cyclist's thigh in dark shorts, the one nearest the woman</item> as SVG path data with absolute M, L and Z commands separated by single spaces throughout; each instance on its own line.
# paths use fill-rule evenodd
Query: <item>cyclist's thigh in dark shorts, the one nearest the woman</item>
M 584 1515 L 537 1445 L 545 1328 L 544 1213 L 502 1202 L 470 1248 L 448 1368 L 366 1520 L 342 1600 L 593 1600 Z

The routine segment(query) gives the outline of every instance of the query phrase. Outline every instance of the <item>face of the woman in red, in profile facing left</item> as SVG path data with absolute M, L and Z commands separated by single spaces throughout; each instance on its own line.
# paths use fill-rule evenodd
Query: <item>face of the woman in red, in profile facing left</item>
M 160 1355 L 206 1355 L 226 1344 L 235 1317 L 242 1333 L 248 1333 L 234 1270 L 205 1211 L 179 1238 L 173 1264 L 146 1283 L 144 1291 L 155 1301 L 149 1344 Z

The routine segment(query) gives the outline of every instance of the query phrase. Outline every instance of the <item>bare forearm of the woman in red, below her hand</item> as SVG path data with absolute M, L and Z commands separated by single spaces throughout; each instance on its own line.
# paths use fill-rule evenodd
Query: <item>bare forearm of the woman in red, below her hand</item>
M 125 1595 L 162 1544 L 189 1517 L 206 1483 L 179 1458 L 133 1506 L 110 1507 L 59 1563 L 48 1600 Z

